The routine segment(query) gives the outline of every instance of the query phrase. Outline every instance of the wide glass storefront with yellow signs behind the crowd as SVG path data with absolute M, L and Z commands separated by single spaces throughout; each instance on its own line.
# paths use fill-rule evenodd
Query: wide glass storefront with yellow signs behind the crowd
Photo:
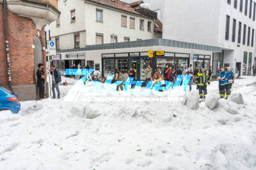
M 149 64 L 153 69 L 161 66 L 162 69 L 166 64 L 174 67 L 189 67 L 188 53 L 164 52 L 164 55 L 148 57 L 148 52 L 132 53 L 104 53 L 102 54 L 102 71 L 104 76 L 113 74 L 115 68 L 124 73 L 131 67 L 135 70 L 136 80 L 145 80 L 144 70 Z M 163 71 L 163 70 L 162 70 Z

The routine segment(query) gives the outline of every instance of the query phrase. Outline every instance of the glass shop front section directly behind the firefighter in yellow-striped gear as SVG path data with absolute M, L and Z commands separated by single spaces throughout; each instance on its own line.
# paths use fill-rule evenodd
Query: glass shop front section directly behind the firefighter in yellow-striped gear
M 211 66 L 211 55 L 194 54 L 194 66 L 199 70 L 205 68 L 205 71 L 208 71 Z

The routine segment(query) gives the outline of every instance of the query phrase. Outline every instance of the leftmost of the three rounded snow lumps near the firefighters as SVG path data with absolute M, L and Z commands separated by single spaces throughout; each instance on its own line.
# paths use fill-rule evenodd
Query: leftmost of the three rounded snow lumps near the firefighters
M 191 92 L 186 92 L 182 104 L 186 105 L 191 110 L 197 110 L 199 108 L 198 91 L 193 90 Z

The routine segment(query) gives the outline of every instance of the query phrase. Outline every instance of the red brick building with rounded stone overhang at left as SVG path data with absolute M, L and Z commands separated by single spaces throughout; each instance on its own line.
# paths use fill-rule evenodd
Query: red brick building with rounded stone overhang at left
M 7 0 L 12 89 L 21 101 L 36 99 L 37 64 L 46 64 L 44 25 L 57 19 L 57 0 Z M 4 5 L 0 0 L 0 83 L 8 85 Z

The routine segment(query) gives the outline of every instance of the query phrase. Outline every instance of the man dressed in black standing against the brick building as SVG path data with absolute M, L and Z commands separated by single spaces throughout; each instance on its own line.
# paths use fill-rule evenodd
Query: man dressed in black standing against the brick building
M 45 78 L 47 77 L 47 74 L 44 72 L 44 64 L 39 63 L 38 70 L 36 71 L 36 77 L 37 77 L 37 87 L 39 89 L 39 97 L 40 99 L 44 99 L 44 84 L 45 84 Z

